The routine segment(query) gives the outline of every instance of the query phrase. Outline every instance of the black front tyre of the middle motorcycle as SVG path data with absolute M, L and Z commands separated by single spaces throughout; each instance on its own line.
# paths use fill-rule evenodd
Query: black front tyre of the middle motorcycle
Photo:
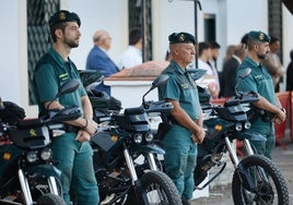
M 175 186 L 174 182 L 167 177 L 166 173 L 162 171 L 154 171 L 154 170 L 148 171 L 141 177 L 140 181 L 141 181 L 143 189 L 145 189 L 146 191 L 150 185 L 153 185 L 153 184 L 160 185 L 160 189 L 163 190 L 167 196 L 167 202 L 163 202 L 162 204 L 168 204 L 168 205 L 181 204 L 180 194 L 177 191 L 177 188 Z M 138 202 L 136 194 L 130 193 L 127 198 L 126 204 L 133 205 L 133 204 L 141 204 L 141 203 Z

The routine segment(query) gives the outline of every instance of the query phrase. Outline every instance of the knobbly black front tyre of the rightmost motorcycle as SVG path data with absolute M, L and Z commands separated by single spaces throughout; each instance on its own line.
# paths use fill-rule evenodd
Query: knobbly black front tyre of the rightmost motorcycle
M 269 177 L 272 179 L 272 182 L 274 183 L 278 195 L 278 204 L 279 205 L 290 204 L 286 182 L 282 173 L 280 172 L 279 168 L 274 164 L 272 164 L 270 159 L 260 155 L 250 155 L 245 157 L 241 162 L 243 164 L 243 167 L 245 169 L 257 166 L 266 170 L 267 174 L 269 174 Z M 235 171 L 232 180 L 232 195 L 234 204 L 237 205 L 246 204 L 243 191 L 244 186 L 242 185 L 237 171 Z

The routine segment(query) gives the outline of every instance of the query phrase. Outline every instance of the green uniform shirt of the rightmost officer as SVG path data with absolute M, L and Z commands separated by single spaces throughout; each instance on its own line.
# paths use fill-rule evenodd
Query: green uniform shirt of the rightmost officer
M 244 80 L 238 80 L 238 92 L 256 92 L 260 94 L 262 97 L 265 97 L 270 104 L 276 105 L 276 95 L 274 95 L 274 88 L 273 83 L 270 74 L 268 73 L 267 69 L 262 67 L 261 64 L 257 64 L 255 61 L 253 61 L 249 57 L 245 57 L 244 61 L 237 69 L 237 76 L 239 76 L 239 73 L 244 70 L 250 68 L 251 73 Z M 258 118 L 254 123 L 253 128 L 262 126 L 263 131 L 270 132 L 270 126 L 272 123 L 263 122 L 260 118 Z

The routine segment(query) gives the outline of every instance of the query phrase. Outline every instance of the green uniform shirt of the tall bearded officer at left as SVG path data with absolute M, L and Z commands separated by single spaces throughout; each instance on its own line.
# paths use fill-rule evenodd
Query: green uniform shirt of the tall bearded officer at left
M 65 61 L 61 56 L 52 48 L 37 63 L 35 69 L 34 82 L 37 92 L 39 111 L 44 111 L 44 102 L 52 101 L 59 87 L 70 79 L 80 81 L 75 64 L 69 59 Z M 65 107 L 78 106 L 82 108 L 81 97 L 86 92 L 80 81 L 80 87 L 70 94 L 59 97 L 59 102 Z

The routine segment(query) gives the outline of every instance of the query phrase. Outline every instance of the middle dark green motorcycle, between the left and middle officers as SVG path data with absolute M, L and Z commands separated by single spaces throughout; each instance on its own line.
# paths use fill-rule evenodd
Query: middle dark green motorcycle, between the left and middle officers
M 95 120 L 102 124 L 91 138 L 101 204 L 181 204 L 175 184 L 154 158 L 164 150 L 154 143 L 156 133 L 150 126 L 150 116 L 169 112 L 172 105 L 144 100 L 166 81 L 166 75 L 159 76 L 143 95 L 142 105 L 124 113 L 107 109 L 110 98 L 104 108 L 94 102 Z

